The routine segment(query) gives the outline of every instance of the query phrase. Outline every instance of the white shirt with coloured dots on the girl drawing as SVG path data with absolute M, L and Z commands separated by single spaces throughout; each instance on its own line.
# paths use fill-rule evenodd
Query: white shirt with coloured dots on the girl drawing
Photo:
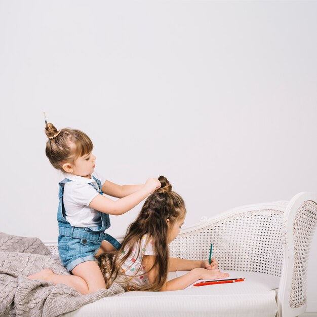
M 147 234 L 144 234 L 141 243 L 133 247 L 131 255 L 122 265 L 122 269 L 126 276 L 132 277 L 130 279 L 131 282 L 140 286 L 149 285 L 145 267 L 142 265 L 142 258 L 144 255 L 155 255 L 153 246 L 154 240 L 152 240 L 151 237 L 148 238 Z M 121 256 L 123 255 L 124 253 Z

